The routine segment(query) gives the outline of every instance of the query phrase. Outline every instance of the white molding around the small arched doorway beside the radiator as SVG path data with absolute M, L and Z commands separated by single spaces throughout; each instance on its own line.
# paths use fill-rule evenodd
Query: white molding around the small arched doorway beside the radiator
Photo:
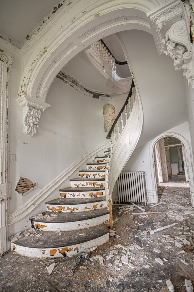
M 185 161 L 186 161 L 186 167 L 188 170 L 188 179 L 189 179 L 190 192 L 191 192 L 191 205 L 192 207 L 194 207 L 194 162 L 193 162 L 193 156 L 192 156 L 192 151 L 191 151 L 191 145 L 183 135 L 179 133 L 175 133 L 175 132 L 162 133 L 158 135 L 157 137 L 155 137 L 149 145 L 149 159 L 150 159 L 154 203 L 159 202 L 157 183 L 156 183 L 156 173 L 155 173 L 155 167 L 154 167 L 154 146 L 156 142 L 158 142 L 161 138 L 165 138 L 165 137 L 178 138 L 184 144 Z

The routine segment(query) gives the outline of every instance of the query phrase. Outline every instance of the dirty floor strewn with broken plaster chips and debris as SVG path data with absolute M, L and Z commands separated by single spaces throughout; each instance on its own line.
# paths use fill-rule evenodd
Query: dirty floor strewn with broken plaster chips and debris
M 165 284 L 167 279 L 172 281 L 175 291 L 186 291 L 185 278 L 192 277 L 194 280 L 194 253 L 180 253 L 183 248 L 176 247 L 174 242 L 167 241 L 173 241 L 176 235 L 181 234 L 185 235 L 187 239 L 192 237 L 194 241 L 194 217 L 184 214 L 191 206 L 189 189 L 159 187 L 159 195 L 160 201 L 165 201 L 168 204 L 161 204 L 154 208 L 150 208 L 149 205 L 145 209 L 161 213 L 148 214 L 148 216 L 143 213 L 142 215 L 132 215 L 133 212 L 140 212 L 139 209 L 135 209 L 118 216 L 118 210 L 114 206 L 114 218 L 119 218 L 115 225 L 116 233 L 120 237 L 115 237 L 112 245 L 104 244 L 94 253 L 90 253 L 90 258 L 97 255 L 103 256 L 105 259 L 103 264 L 100 263 L 99 259 L 93 258 L 83 264 L 87 270 L 77 267 L 74 275 L 70 277 L 71 264 L 75 258 L 42 261 L 19 256 L 9 251 L 0 258 L 0 291 L 167 292 L 168 288 Z M 175 222 L 179 222 L 179 224 L 153 235 L 147 235 L 145 232 Z M 109 252 L 117 244 L 130 247 L 128 256 L 135 268 L 124 264 L 119 266 L 115 263 L 118 255 L 127 254 L 122 253 L 123 248 L 116 247 L 115 250 L 118 250 L 118 254 L 106 260 L 106 256 L 110 255 Z M 132 246 L 132 244 L 137 244 L 141 249 Z M 161 252 L 156 253 L 154 248 L 160 249 Z M 160 265 L 155 260 L 158 257 L 168 261 Z M 188 266 L 181 265 L 180 258 L 182 257 L 190 262 Z M 178 260 L 176 261 L 176 259 Z M 57 263 L 57 266 L 49 275 L 46 265 L 50 265 L 53 261 Z M 144 265 L 150 267 L 147 269 Z M 115 270 L 115 267 L 118 270 Z M 159 282 L 159 280 L 162 281 Z

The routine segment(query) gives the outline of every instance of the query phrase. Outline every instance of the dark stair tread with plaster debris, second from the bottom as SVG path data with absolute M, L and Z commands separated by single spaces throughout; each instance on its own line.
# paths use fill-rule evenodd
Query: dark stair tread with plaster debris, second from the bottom
M 42 223 L 66 223 L 89 220 L 106 214 L 109 214 L 109 211 L 106 208 L 76 213 L 55 213 L 57 216 L 51 216 L 53 213 L 47 211 L 43 218 L 36 218 L 36 216 L 34 216 L 30 217 L 29 220 Z

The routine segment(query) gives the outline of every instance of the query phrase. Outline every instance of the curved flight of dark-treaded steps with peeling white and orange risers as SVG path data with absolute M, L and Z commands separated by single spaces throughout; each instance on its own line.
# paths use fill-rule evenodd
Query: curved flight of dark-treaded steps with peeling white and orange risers
M 87 164 L 60 197 L 47 201 L 47 211 L 29 218 L 31 229 L 10 237 L 11 249 L 28 257 L 73 256 L 109 239 L 110 215 L 105 171 L 110 151 Z M 106 225 L 105 225 L 105 224 Z

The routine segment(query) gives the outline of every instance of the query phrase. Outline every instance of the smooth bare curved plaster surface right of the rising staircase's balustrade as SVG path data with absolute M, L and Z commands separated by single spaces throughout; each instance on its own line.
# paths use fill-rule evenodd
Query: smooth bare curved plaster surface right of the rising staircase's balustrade
M 118 34 L 135 75 L 143 105 L 143 129 L 138 146 L 187 121 L 184 78 L 173 61 L 158 55 L 153 36 L 140 30 Z

